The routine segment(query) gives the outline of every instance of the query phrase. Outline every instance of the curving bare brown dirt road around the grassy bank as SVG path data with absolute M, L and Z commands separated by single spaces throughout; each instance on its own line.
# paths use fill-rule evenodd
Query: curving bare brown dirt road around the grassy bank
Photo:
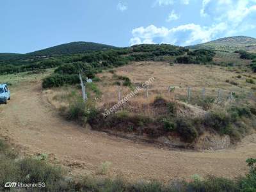
M 193 174 L 236 177 L 248 171 L 245 160 L 256 157 L 256 136 L 236 149 L 214 152 L 168 150 L 134 143 L 66 122 L 44 99 L 40 83 L 13 88 L 12 100 L 0 106 L 0 133 L 22 154 L 51 154 L 72 173 L 95 173 L 111 162 L 109 175 L 127 179 L 189 179 Z

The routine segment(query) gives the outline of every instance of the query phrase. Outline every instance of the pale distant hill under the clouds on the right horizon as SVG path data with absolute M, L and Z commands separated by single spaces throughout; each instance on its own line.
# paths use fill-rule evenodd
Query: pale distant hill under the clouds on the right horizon
M 223 51 L 236 51 L 239 49 L 246 51 L 256 51 L 256 38 L 249 36 L 230 36 L 198 44 L 188 46 L 189 49 L 216 49 Z

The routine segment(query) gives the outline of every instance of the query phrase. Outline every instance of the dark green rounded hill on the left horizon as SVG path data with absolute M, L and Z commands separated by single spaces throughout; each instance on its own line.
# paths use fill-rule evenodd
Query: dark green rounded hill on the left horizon
M 27 54 L 34 56 L 49 56 L 55 54 L 77 54 L 88 51 L 103 51 L 105 49 L 114 49 L 116 47 L 111 45 L 96 44 L 92 42 L 72 42 L 68 44 L 61 44 L 47 49 L 42 49 Z

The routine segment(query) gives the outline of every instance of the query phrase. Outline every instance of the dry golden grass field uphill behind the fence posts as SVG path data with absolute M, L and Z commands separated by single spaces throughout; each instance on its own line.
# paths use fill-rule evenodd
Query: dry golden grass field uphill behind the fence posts
M 156 78 L 149 86 L 149 99 L 146 98 L 145 90 L 131 99 L 131 101 L 139 103 L 147 103 L 148 100 L 152 101 L 159 95 L 168 99 L 186 97 L 188 87 L 191 87 L 191 97 L 201 97 L 202 88 L 205 88 L 205 95 L 209 97 L 217 97 L 219 89 L 222 90 L 223 98 L 228 97 L 230 92 L 235 92 L 236 95 L 246 95 L 252 92 L 251 85 L 245 82 L 246 77 L 243 76 L 239 79 L 236 72 L 223 70 L 218 66 L 179 64 L 171 67 L 168 63 L 148 61 L 116 68 L 116 74 L 129 77 L 134 86 L 145 83 L 150 77 Z M 248 72 L 243 74 L 249 75 Z M 99 106 L 107 102 L 117 102 L 120 87 L 113 86 L 115 82 L 113 74 L 104 72 L 99 76 L 104 79 L 98 83 L 100 90 L 104 93 L 102 100 L 99 101 Z M 227 83 L 227 79 L 238 83 L 238 86 Z M 169 94 L 168 86 L 174 86 L 175 91 Z M 124 86 L 121 89 L 123 96 L 131 92 L 130 88 Z

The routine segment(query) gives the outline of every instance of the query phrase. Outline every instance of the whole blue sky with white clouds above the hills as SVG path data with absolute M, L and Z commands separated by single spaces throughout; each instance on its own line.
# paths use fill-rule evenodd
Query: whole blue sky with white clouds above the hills
M 255 32 L 256 0 L 0 1 L 0 52 L 75 41 L 184 46 Z

